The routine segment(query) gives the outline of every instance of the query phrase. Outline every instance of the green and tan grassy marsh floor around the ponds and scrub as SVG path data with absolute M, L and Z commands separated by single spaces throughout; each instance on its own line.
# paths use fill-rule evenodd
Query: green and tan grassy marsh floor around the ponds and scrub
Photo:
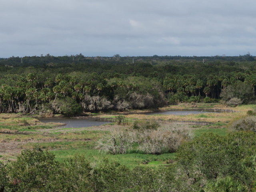
M 192 108 L 190 104 L 168 106 L 160 110 L 187 109 Z M 167 166 L 174 160 L 175 153 L 149 155 L 136 150 L 136 146 L 127 154 L 104 154 L 95 149 L 96 142 L 113 128 L 126 128 L 132 126 L 136 119 L 174 120 L 192 122 L 210 122 L 206 126 L 190 125 L 194 137 L 203 133 L 214 132 L 225 135 L 234 120 L 246 116 L 248 110 L 255 110 L 255 105 L 244 105 L 236 108 L 227 108 L 220 104 L 197 104 L 193 108 L 216 108 L 230 109 L 236 112 L 191 114 L 186 116 L 178 115 L 144 115 L 143 111 L 129 111 L 119 113 L 125 116 L 125 125 L 111 123 L 103 126 L 90 128 L 56 128 L 60 124 L 44 124 L 36 118 L 22 116 L 21 114 L 0 114 L 0 160 L 15 159 L 22 149 L 33 148 L 38 145 L 43 149 L 50 150 L 56 155 L 57 160 L 65 160 L 74 154 L 83 154 L 92 162 L 98 163 L 103 158 L 117 160 L 132 168 L 137 165 L 157 167 Z M 147 111 L 148 112 L 148 111 Z M 118 114 L 98 114 L 97 117 L 116 118 Z

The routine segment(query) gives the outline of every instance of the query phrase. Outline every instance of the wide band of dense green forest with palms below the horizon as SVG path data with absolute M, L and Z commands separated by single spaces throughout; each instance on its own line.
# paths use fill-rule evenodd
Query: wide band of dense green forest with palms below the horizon
M 243 56 L 0 59 L 0 112 L 73 113 L 157 108 L 177 102 L 254 100 L 256 60 Z M 239 87 L 240 89 L 238 89 Z M 232 100 L 232 101 L 233 101 Z M 68 103 L 70 106 L 66 106 Z M 65 112 L 64 112 L 65 111 Z

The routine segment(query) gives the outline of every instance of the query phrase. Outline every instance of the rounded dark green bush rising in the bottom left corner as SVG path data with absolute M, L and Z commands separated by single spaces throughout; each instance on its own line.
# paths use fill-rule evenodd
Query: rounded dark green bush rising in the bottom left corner
M 59 165 L 53 154 L 38 147 L 23 150 L 16 161 L 7 164 L 6 191 L 61 191 Z

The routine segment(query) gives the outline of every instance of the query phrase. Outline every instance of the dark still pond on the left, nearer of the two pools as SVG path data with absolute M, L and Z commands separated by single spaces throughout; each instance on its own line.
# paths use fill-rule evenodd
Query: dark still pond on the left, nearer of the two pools
M 64 123 L 66 125 L 61 126 L 62 128 L 81 128 L 81 127 L 91 127 L 99 126 L 109 122 L 106 121 L 92 121 L 87 119 L 73 119 L 73 118 L 42 118 L 38 119 L 41 122 L 55 122 L 55 123 Z

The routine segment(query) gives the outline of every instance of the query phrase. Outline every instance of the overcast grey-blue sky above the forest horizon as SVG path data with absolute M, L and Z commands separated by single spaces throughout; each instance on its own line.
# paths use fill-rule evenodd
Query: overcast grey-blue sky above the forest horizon
M 256 55 L 255 0 L 1 0 L 0 58 Z

